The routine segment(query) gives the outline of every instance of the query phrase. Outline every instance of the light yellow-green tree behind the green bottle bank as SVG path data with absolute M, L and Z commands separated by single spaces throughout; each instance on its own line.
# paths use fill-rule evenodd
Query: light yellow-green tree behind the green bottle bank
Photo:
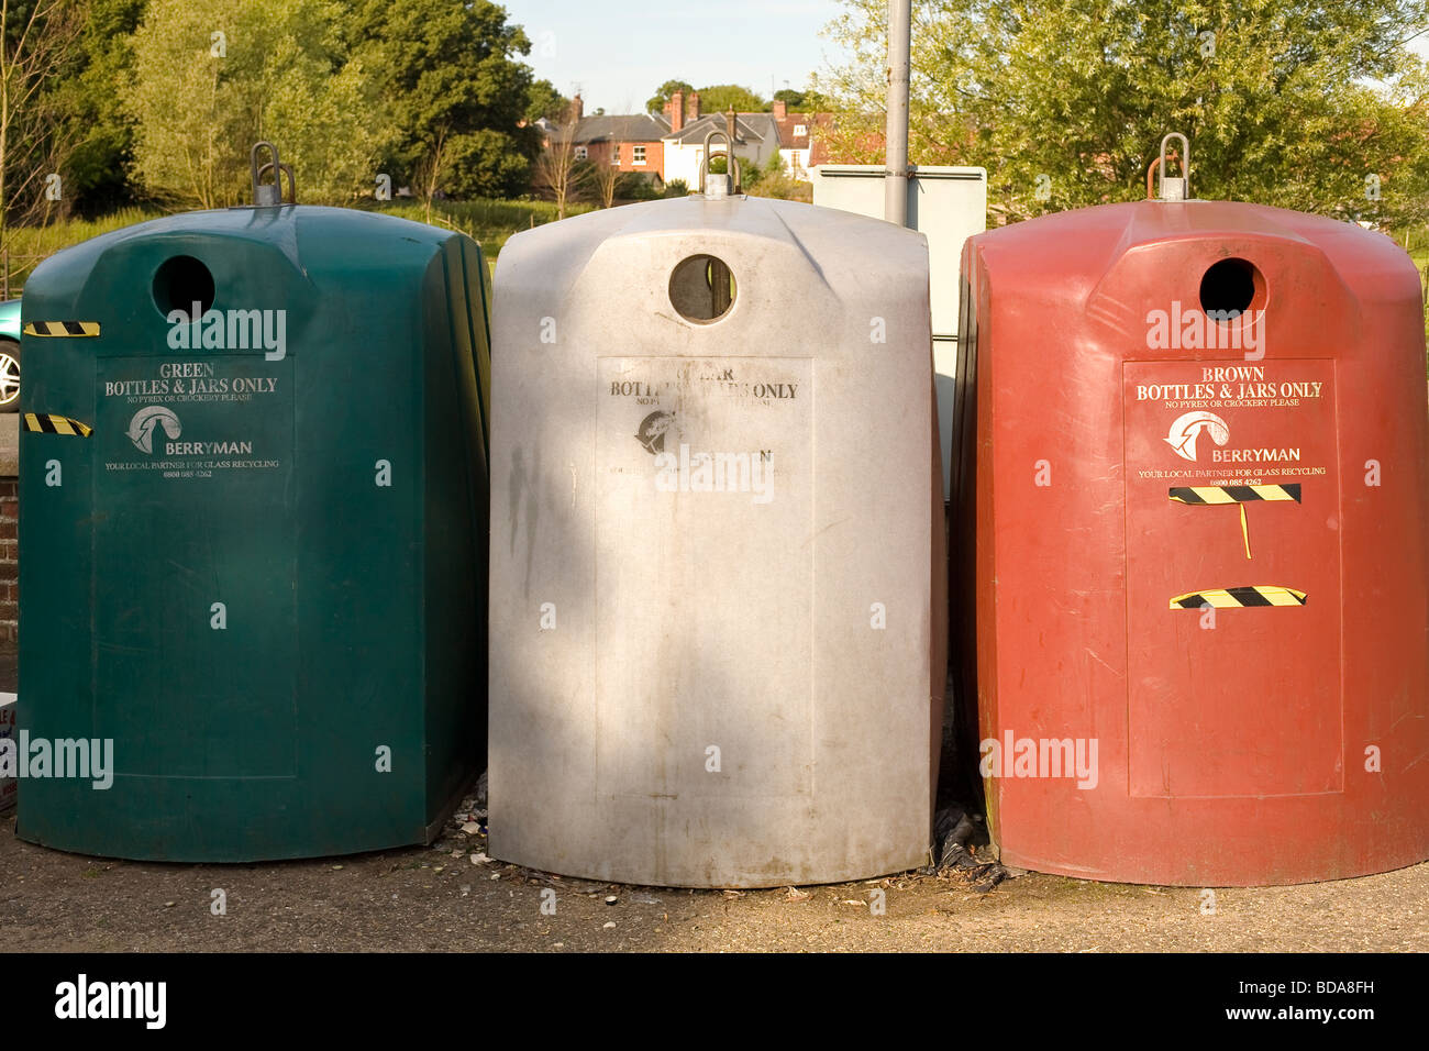
M 389 126 L 340 17 L 332 0 L 150 0 L 126 90 L 137 180 L 177 204 L 246 202 L 249 149 L 269 139 L 303 200 L 372 186 Z

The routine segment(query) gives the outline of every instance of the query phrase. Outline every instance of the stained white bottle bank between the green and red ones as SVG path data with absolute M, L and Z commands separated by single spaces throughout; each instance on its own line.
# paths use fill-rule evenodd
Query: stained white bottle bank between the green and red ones
M 770 887 L 927 861 L 927 245 L 742 196 L 519 233 L 492 316 L 490 852 Z

